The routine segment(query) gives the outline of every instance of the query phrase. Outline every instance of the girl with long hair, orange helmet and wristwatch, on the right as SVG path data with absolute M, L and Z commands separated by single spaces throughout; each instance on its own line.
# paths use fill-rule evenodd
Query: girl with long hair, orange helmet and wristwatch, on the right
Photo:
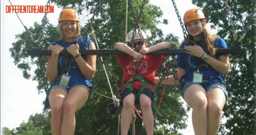
M 222 77 L 229 73 L 230 63 L 228 54 L 216 55 L 215 48 L 228 46 L 222 38 L 210 34 L 205 28 L 206 18 L 202 10 L 187 10 L 183 21 L 188 31 L 186 40 L 193 42 L 183 41 L 180 45 L 180 49 L 185 49 L 187 54 L 177 56 L 179 80 L 169 76 L 162 83 L 180 83 L 181 96 L 193 108 L 195 135 L 216 135 L 221 123 L 222 109 L 228 98 Z M 155 82 L 159 81 L 155 77 Z

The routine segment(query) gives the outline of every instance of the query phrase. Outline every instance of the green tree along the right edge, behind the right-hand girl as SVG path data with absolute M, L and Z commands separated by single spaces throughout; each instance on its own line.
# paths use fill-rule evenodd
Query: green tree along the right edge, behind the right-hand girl
M 227 2 L 228 1 L 228 2 Z M 229 12 L 226 9 L 228 3 Z M 221 124 L 220 135 L 255 135 L 256 134 L 256 0 L 193 0 L 193 4 L 201 7 L 213 28 L 218 28 L 218 35 L 224 37 L 229 47 L 241 45 L 233 42 L 233 33 L 237 40 L 246 34 L 242 46 L 247 49 L 246 55 L 232 56 L 231 73 L 226 82 L 231 84 L 228 104 L 224 107 L 225 124 Z M 233 21 L 233 27 L 229 20 Z M 248 24 L 250 22 L 250 24 Z M 248 24 L 248 26 L 247 26 Z M 247 27 L 247 28 L 246 28 Z M 244 33 L 244 29 L 247 31 Z

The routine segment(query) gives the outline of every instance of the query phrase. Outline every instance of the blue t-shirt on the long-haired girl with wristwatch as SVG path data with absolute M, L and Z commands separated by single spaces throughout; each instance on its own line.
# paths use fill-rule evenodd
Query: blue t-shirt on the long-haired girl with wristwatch
M 202 47 L 202 43 L 200 41 L 194 41 L 196 45 Z M 180 46 L 180 49 L 184 49 L 184 44 Z M 214 43 L 215 48 L 228 48 L 228 45 L 225 43 L 225 41 L 221 37 L 217 37 Z M 215 59 L 218 59 L 220 55 L 216 54 L 214 55 Z M 224 77 L 224 74 L 221 74 L 215 69 L 213 69 L 209 64 L 208 67 L 205 70 L 202 70 L 199 67 L 200 64 L 202 64 L 202 59 L 193 55 L 185 54 L 185 55 L 178 55 L 177 56 L 177 66 L 183 69 L 186 69 L 186 73 L 180 77 L 180 80 L 183 81 L 193 81 L 193 72 L 197 71 L 199 69 L 200 74 L 202 74 L 203 77 L 209 77 L 210 80 L 220 80 L 221 83 L 224 84 L 224 80 L 222 77 Z

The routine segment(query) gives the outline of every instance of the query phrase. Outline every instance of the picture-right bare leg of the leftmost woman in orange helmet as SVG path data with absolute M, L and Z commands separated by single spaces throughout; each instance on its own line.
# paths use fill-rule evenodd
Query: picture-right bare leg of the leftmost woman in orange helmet
M 74 135 L 76 129 L 75 113 L 86 103 L 89 91 L 82 87 L 70 90 L 63 104 L 61 135 Z

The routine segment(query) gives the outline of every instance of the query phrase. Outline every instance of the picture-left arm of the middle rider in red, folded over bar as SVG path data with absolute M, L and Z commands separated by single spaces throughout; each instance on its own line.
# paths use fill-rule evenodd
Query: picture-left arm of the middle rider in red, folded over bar
M 118 49 L 119 51 L 122 51 L 122 52 L 125 52 L 127 53 L 128 55 L 131 55 L 133 56 L 136 61 L 140 61 L 143 57 L 142 54 L 138 53 L 138 52 L 135 52 L 133 49 L 131 49 L 129 46 L 127 46 L 125 43 L 115 43 L 115 46 L 114 46 L 115 49 Z

